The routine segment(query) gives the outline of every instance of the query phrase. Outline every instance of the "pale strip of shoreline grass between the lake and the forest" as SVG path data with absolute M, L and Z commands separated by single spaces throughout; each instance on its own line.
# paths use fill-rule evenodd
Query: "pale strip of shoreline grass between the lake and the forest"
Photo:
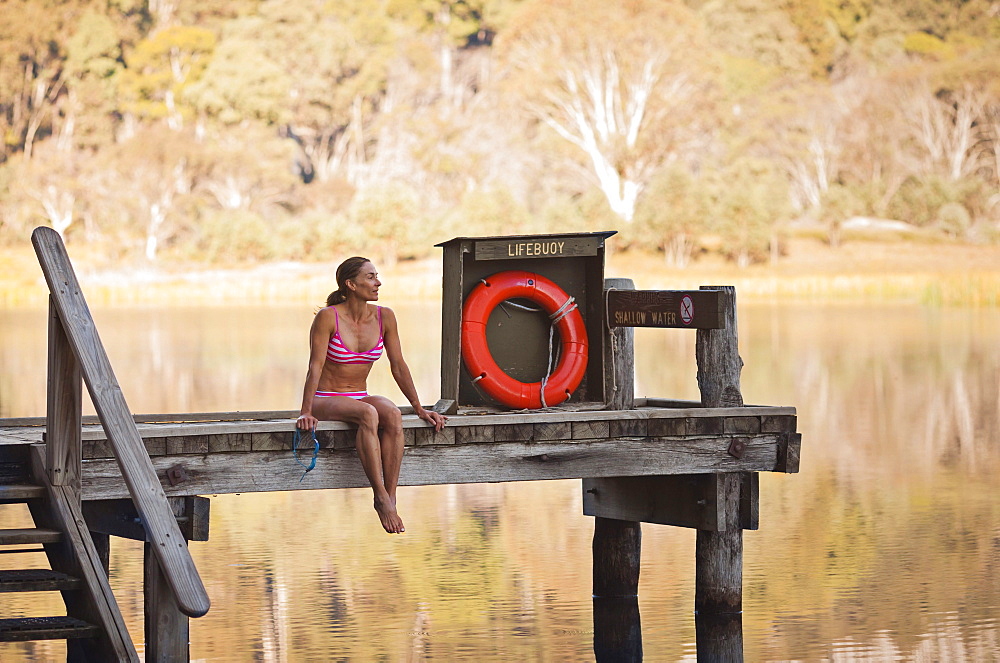
M 48 290 L 34 256 L 3 256 L 0 308 L 39 308 Z M 307 304 L 321 306 L 335 287 L 336 264 L 268 263 L 233 268 L 180 266 L 95 270 L 86 261 L 77 274 L 95 307 L 226 306 Z M 380 266 L 387 301 L 438 301 L 440 260 Z M 1000 306 L 1000 249 L 996 247 L 859 244 L 848 251 L 796 246 L 776 265 L 738 270 L 721 260 L 703 259 L 687 269 L 662 259 L 614 252 L 608 276 L 628 276 L 648 290 L 688 290 L 701 285 L 733 285 L 743 302 L 870 302 L 925 306 Z

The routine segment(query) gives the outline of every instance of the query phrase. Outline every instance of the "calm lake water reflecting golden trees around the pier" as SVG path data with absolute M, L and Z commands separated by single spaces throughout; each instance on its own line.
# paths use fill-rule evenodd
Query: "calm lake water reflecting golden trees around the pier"
M 432 403 L 439 308 L 395 308 Z M 95 318 L 133 411 L 247 411 L 297 409 L 311 314 Z M 0 311 L 0 416 L 43 414 L 45 329 L 43 311 Z M 801 472 L 761 475 L 760 530 L 744 534 L 746 660 L 1000 660 L 1000 311 L 741 303 L 739 336 L 746 402 L 795 406 L 803 435 Z M 697 399 L 694 333 L 637 330 L 636 356 L 637 396 Z M 386 362 L 370 387 L 404 402 Z M 392 537 L 367 490 L 213 498 L 211 540 L 191 544 L 212 598 L 191 621 L 192 660 L 594 659 L 579 481 L 402 488 L 399 501 L 407 532 Z M 697 656 L 694 539 L 643 526 L 647 661 Z M 141 646 L 141 545 L 114 540 L 111 572 Z M 48 600 L 10 596 L 0 616 Z

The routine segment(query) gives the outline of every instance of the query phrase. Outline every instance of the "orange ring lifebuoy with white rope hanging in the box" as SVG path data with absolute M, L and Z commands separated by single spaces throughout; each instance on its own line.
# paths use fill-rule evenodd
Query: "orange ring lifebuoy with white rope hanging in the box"
M 542 382 L 526 383 L 507 375 L 486 342 L 490 313 L 502 301 L 515 298 L 539 304 L 559 330 L 559 363 Z M 574 301 L 555 283 L 531 272 L 511 270 L 483 279 L 462 307 L 462 359 L 476 386 L 515 408 L 558 405 L 569 398 L 587 370 L 587 329 Z

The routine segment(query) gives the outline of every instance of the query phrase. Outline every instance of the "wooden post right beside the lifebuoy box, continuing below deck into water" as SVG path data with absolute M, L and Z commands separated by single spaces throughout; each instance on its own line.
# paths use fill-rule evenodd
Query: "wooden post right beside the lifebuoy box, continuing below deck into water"
M 604 288 L 633 290 L 632 279 L 605 279 Z M 605 311 L 606 314 L 606 311 Z M 615 327 L 605 344 L 604 395 L 610 410 L 635 406 L 634 331 Z M 638 522 L 594 518 L 594 657 L 597 661 L 641 661 Z

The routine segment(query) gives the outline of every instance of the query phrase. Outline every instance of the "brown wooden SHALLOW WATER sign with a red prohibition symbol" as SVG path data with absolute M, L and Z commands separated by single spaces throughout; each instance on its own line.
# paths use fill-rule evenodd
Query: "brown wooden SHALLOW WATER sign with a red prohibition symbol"
M 611 327 L 721 329 L 717 290 L 609 290 Z

